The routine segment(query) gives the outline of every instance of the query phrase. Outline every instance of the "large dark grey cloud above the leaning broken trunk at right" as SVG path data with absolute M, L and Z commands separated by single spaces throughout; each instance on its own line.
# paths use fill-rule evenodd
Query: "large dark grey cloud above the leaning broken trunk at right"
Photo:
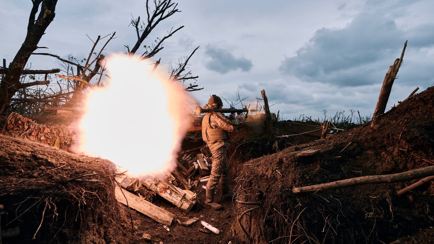
M 279 70 L 309 82 L 361 86 L 384 78 L 388 66 L 401 54 L 405 40 L 411 47 L 434 43 L 434 26 L 424 24 L 400 30 L 381 11 L 362 12 L 342 29 L 322 28 L 287 57 Z

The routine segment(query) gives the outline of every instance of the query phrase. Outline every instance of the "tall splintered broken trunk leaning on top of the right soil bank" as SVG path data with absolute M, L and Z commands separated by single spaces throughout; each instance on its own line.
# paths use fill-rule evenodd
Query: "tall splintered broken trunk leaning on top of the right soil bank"
M 402 58 L 404 57 L 405 47 L 407 47 L 407 41 L 404 44 L 404 49 L 402 49 L 401 58 L 396 59 L 395 63 L 389 67 L 389 70 L 386 73 L 383 86 L 381 86 L 380 96 L 378 96 L 377 106 L 375 107 L 374 115 L 372 115 L 371 127 L 378 124 L 381 119 L 380 116 L 383 115 L 386 110 L 393 82 L 395 81 L 396 74 L 398 73 L 399 67 L 402 63 Z

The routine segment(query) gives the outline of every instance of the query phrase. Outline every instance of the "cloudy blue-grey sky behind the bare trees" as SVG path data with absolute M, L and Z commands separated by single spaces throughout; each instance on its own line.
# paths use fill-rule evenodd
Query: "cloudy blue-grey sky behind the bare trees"
M 0 6 L 0 59 L 9 63 L 26 36 L 32 3 L 0 0 Z M 283 119 L 322 120 L 324 111 L 332 116 L 350 110 L 371 116 L 385 74 L 407 40 L 387 110 L 416 87 L 422 92 L 434 84 L 432 0 L 182 0 L 177 8 L 181 12 L 163 20 L 144 44 L 184 26 L 164 41 L 155 60 L 161 58 L 158 69 L 164 71 L 200 46 L 188 68 L 204 87 L 191 92 L 201 106 L 212 94 L 229 102 L 239 94 L 247 97 L 245 104 L 256 104 L 265 89 L 271 112 Z M 123 53 L 137 39 L 128 26 L 132 16 L 145 19 L 144 0 L 59 0 L 38 45 L 49 49 L 38 52 L 85 58 L 89 38 L 116 32 L 105 54 Z M 49 56 L 32 56 L 29 63 L 32 69 L 59 66 Z

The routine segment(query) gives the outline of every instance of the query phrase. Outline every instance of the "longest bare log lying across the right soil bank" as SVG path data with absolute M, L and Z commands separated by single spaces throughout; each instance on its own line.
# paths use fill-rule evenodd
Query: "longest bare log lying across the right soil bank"
M 418 168 L 410 171 L 391 175 L 368 175 L 356 178 L 350 178 L 340 181 L 333 181 L 318 185 L 309 185 L 293 188 L 293 193 L 301 193 L 308 191 L 319 191 L 328 189 L 344 188 L 354 185 L 378 184 L 378 183 L 394 183 L 401 181 L 410 181 L 434 175 L 434 165 L 425 168 Z

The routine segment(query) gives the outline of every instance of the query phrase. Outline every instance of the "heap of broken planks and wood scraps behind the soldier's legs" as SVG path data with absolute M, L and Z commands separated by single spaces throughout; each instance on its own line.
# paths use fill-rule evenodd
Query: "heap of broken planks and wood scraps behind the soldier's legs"
M 206 184 L 211 168 L 211 158 L 202 153 L 185 153 L 178 159 L 177 167 L 166 171 L 164 175 L 147 175 L 144 178 L 132 178 L 126 170 L 118 166 L 118 174 L 115 176 L 118 185 L 115 191 L 116 199 L 149 218 L 170 226 L 174 214 L 152 204 L 149 197 L 141 194 L 143 188 L 146 188 L 145 191 L 152 191 L 153 195 L 161 196 L 182 211 L 189 212 L 197 200 L 197 193 L 191 191 L 191 188 L 198 188 L 201 183 Z M 189 226 L 197 220 L 199 218 L 178 222 Z

